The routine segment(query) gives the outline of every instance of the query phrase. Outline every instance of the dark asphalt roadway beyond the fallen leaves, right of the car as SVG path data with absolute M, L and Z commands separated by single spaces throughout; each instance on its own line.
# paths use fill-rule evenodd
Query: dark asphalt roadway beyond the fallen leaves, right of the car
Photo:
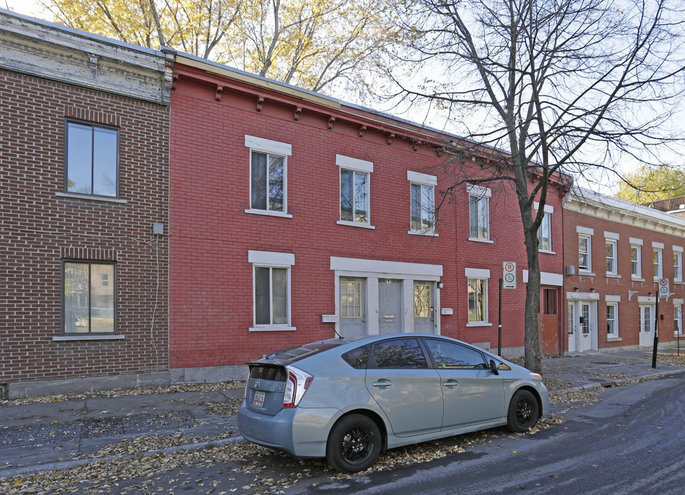
M 659 494 L 685 490 L 685 375 L 611 388 L 546 432 L 288 494 Z M 301 489 L 305 488 L 305 489 Z

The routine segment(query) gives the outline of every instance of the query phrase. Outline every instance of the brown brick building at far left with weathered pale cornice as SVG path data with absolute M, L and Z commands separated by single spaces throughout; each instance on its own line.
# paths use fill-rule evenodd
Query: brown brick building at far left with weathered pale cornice
M 169 381 L 165 62 L 0 12 L 0 396 Z

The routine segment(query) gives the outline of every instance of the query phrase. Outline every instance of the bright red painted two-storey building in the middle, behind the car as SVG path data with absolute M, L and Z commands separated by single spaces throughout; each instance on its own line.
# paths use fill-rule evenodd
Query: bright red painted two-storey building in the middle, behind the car
M 263 353 L 343 336 L 442 333 L 523 355 L 527 276 L 510 186 L 454 184 L 456 138 L 178 54 L 171 96 L 173 381 L 242 376 Z M 481 150 L 492 153 L 492 150 Z M 466 173 L 489 173 L 475 152 Z M 464 181 L 465 175 L 457 180 Z M 541 270 L 546 352 L 561 350 L 561 201 Z

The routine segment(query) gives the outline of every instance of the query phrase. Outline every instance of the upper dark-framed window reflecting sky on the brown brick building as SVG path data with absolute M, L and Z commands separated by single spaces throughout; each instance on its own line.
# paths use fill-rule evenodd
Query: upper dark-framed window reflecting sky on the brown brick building
M 118 129 L 67 122 L 65 142 L 65 192 L 118 197 Z

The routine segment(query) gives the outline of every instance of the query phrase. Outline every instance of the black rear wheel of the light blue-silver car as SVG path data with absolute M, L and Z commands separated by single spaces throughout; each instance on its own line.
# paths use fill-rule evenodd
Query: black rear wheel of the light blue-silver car
M 363 471 L 378 459 L 380 444 L 380 430 L 373 419 L 345 416 L 331 428 L 326 460 L 340 472 Z

